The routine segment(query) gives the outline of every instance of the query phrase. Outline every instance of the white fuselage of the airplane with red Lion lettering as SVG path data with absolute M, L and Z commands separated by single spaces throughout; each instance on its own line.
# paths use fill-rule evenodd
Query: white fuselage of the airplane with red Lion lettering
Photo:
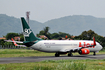
M 42 40 L 31 47 L 43 52 L 67 52 L 83 46 L 88 48 L 90 52 L 97 52 L 102 49 L 102 46 L 98 42 L 96 42 L 96 46 L 87 47 L 92 44 L 93 41 L 88 40 Z

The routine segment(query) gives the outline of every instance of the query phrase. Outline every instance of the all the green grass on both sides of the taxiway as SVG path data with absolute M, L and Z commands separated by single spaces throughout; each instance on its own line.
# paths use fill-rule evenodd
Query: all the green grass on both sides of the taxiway
M 54 56 L 27 49 L 0 49 L 0 57 Z M 93 53 L 90 53 L 90 55 Z M 101 51 L 97 54 L 105 54 Z M 74 53 L 73 55 L 79 55 Z M 0 70 L 105 70 L 105 59 L 86 60 L 44 60 L 41 62 L 0 64 Z

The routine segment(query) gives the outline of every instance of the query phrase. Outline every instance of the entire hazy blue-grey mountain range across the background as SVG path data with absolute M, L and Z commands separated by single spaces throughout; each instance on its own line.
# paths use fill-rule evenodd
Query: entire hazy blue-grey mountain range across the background
M 52 19 L 45 23 L 30 20 L 30 27 L 35 34 L 43 30 L 45 26 L 50 27 L 50 33 L 65 32 L 71 35 L 80 35 L 83 31 L 91 29 L 95 31 L 95 33 L 105 36 L 105 18 L 73 15 Z M 0 14 L 0 37 L 5 36 L 9 32 L 22 32 L 20 18 Z

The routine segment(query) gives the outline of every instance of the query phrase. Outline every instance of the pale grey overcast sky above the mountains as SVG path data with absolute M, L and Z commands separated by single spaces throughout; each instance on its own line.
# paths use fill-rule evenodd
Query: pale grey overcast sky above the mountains
M 105 0 L 0 0 L 0 14 L 46 22 L 73 15 L 105 18 Z

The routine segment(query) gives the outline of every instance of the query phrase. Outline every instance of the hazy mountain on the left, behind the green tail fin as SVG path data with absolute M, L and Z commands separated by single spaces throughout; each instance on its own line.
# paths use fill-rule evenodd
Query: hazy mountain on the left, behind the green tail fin
M 30 20 L 30 27 L 34 33 L 39 33 L 45 26 L 37 21 Z M 22 32 L 21 20 L 19 18 L 10 17 L 5 14 L 0 14 L 0 37 L 5 36 L 7 33 Z

